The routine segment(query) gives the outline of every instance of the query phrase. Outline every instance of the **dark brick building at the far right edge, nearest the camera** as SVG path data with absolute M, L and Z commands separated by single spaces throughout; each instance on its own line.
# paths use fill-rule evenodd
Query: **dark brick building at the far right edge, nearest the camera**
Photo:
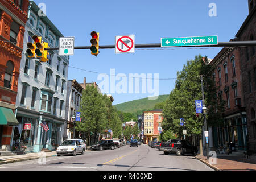
M 249 15 L 236 34 L 237 41 L 256 40 L 256 1 L 249 0 Z M 256 54 L 254 47 L 238 48 L 241 61 L 242 90 L 247 123 L 247 144 L 256 152 Z

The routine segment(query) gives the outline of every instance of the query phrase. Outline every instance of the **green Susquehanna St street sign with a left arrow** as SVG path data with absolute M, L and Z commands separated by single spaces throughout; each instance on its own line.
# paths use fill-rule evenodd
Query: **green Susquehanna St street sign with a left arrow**
M 193 36 L 187 38 L 161 38 L 161 47 L 217 45 L 218 36 Z

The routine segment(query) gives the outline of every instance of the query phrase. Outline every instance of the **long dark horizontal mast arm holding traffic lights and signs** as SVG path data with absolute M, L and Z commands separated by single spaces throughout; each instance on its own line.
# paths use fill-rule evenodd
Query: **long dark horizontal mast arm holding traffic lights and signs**
M 218 42 L 216 45 L 203 45 L 203 46 L 172 46 L 172 47 L 238 47 L 238 46 L 256 46 L 256 40 L 251 41 L 232 41 L 232 42 Z M 90 49 L 91 46 L 75 46 L 74 49 Z M 160 43 L 156 44 L 135 44 L 135 48 L 153 48 L 161 47 Z M 115 45 L 99 46 L 99 49 L 112 49 Z M 162 47 L 163 48 L 163 47 Z M 48 50 L 59 50 L 59 47 L 44 48 Z

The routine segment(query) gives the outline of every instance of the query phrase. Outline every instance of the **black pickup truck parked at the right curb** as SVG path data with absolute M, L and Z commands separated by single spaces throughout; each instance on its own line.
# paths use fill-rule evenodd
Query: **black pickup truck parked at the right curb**
M 166 155 L 176 153 L 177 155 L 192 154 L 193 156 L 195 156 L 198 151 L 197 147 L 192 146 L 189 141 L 180 139 L 170 139 L 167 142 L 162 142 L 160 150 Z

